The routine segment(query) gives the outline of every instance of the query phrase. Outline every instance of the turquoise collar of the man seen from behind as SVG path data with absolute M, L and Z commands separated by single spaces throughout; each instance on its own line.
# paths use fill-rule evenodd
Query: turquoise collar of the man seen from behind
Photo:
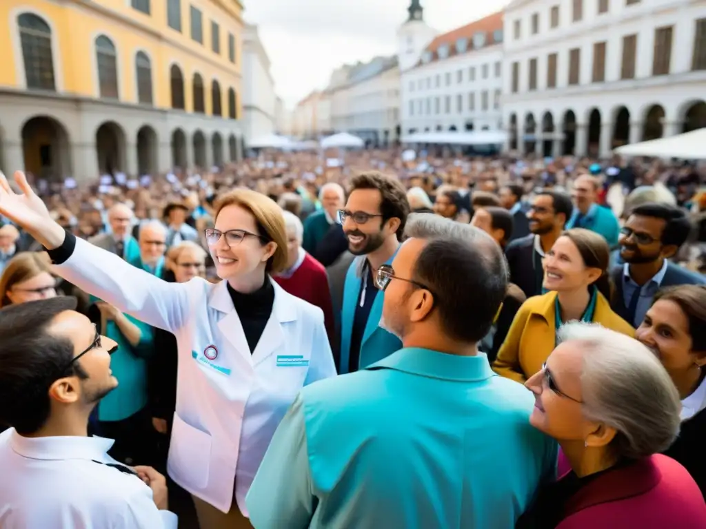
M 385 368 L 422 377 L 465 382 L 481 382 L 495 375 L 485 353 L 460 356 L 417 347 L 402 348 L 366 367 L 368 370 Z

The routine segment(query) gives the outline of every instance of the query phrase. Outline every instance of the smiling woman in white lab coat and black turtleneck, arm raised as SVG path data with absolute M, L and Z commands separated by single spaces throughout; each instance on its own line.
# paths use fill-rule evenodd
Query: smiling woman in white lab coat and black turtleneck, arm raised
M 15 181 L 20 193 L 0 174 L 0 214 L 49 250 L 59 275 L 177 337 L 169 475 L 203 529 L 250 527 L 245 496 L 277 425 L 302 386 L 335 376 L 323 312 L 269 277 L 287 263 L 280 208 L 252 190 L 219 197 L 206 238 L 225 281 L 174 284 L 73 237 L 24 174 Z

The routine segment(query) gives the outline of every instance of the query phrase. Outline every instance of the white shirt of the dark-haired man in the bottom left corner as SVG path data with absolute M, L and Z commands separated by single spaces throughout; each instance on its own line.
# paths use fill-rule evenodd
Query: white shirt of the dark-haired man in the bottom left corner
M 0 434 L 2 529 L 177 529 L 136 475 L 101 463 L 112 439 Z

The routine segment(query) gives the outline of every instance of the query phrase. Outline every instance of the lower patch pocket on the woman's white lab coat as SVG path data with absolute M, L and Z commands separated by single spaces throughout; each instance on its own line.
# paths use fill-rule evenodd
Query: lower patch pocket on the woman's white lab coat
M 198 430 L 174 413 L 169 468 L 187 485 L 203 489 L 208 485 L 211 462 L 211 436 Z

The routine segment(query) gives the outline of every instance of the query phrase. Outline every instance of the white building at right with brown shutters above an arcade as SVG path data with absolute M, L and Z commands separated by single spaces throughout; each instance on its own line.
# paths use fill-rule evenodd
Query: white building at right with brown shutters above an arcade
M 606 157 L 706 126 L 703 2 L 515 0 L 504 27 L 510 150 Z

